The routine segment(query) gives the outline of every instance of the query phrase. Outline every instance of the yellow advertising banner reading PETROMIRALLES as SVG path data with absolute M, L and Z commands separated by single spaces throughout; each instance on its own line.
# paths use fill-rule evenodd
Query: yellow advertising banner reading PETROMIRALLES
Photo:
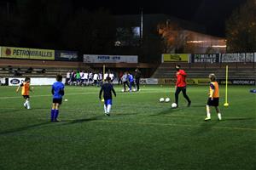
M 2 47 L 2 58 L 13 59 L 55 59 L 55 50 L 36 48 Z

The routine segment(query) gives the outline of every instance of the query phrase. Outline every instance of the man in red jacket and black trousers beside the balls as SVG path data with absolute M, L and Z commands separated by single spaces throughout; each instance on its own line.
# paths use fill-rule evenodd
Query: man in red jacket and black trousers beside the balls
M 189 99 L 189 96 L 186 93 L 186 77 L 187 73 L 183 71 L 180 65 L 175 65 L 176 68 L 176 77 L 177 77 L 177 82 L 176 82 L 176 92 L 175 92 L 175 103 L 178 105 L 178 94 L 182 91 L 183 92 L 183 97 L 187 99 L 188 101 L 188 107 L 191 105 L 191 100 Z

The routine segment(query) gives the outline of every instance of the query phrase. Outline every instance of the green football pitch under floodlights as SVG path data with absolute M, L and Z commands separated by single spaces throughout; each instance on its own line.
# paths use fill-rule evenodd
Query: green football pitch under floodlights
M 222 121 L 206 116 L 207 86 L 189 86 L 187 107 L 173 86 L 145 86 L 121 93 L 114 85 L 111 116 L 104 116 L 100 88 L 68 87 L 61 122 L 49 122 L 50 86 L 34 87 L 31 110 L 15 87 L 0 87 L 0 169 L 255 169 L 256 94 L 252 86 L 230 86 Z M 171 102 L 160 103 L 161 97 Z

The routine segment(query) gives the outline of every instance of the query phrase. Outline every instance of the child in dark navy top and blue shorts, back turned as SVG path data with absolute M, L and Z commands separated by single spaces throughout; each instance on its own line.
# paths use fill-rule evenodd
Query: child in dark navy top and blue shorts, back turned
M 112 93 L 116 97 L 115 91 L 113 89 L 113 85 L 111 84 L 111 78 L 106 78 L 106 83 L 102 85 L 99 98 L 102 99 L 102 91 L 103 91 L 103 97 L 104 97 L 104 111 L 107 116 L 110 116 L 110 110 L 112 106 Z

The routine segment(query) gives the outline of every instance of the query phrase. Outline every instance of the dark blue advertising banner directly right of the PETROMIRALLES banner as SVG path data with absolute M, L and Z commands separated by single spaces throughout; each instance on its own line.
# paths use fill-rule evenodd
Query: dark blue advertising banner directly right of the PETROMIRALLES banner
M 60 61 L 78 61 L 79 54 L 76 51 L 55 50 L 55 60 Z

